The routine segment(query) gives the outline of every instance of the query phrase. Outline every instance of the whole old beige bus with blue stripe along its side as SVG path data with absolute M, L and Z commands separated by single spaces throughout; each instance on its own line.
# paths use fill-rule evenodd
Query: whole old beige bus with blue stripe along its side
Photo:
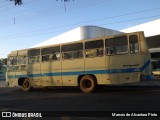
M 12 51 L 6 81 L 23 91 L 75 86 L 92 93 L 97 86 L 139 82 L 150 75 L 144 33 L 133 32 Z

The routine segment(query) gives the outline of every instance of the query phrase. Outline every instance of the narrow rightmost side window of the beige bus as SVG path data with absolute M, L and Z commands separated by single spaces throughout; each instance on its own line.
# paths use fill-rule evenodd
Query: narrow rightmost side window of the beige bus
M 138 35 L 129 36 L 129 46 L 131 54 L 139 53 Z

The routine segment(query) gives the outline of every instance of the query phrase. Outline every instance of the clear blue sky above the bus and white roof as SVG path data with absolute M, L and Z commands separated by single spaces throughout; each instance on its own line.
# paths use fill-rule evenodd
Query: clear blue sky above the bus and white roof
M 79 26 L 122 30 L 159 18 L 160 0 L 0 0 L 0 58 Z

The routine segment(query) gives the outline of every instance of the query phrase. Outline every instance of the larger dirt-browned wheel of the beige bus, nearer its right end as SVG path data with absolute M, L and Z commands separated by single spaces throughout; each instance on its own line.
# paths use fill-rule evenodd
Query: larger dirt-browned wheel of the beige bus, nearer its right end
M 90 75 L 85 75 L 80 80 L 80 89 L 84 93 L 93 93 L 96 89 L 97 82 L 94 77 Z

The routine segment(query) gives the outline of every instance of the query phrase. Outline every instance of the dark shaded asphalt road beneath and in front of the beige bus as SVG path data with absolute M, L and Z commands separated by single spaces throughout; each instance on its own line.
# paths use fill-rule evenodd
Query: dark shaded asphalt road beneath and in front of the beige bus
M 74 114 L 84 114 L 84 112 L 74 111 L 86 111 L 87 114 L 94 114 L 94 117 L 73 118 L 70 116 L 58 117 L 58 120 L 95 119 L 97 111 L 102 113 L 103 111 L 157 112 L 160 111 L 160 81 L 107 86 L 97 90 L 94 94 L 84 94 L 79 88 L 36 88 L 31 92 L 22 92 L 20 88 L 1 86 L 0 111 L 72 111 Z M 101 114 L 100 112 L 98 114 Z M 110 112 L 105 114 L 110 114 Z M 98 117 L 96 119 L 104 120 L 105 118 Z M 107 119 L 117 120 L 113 117 Z

